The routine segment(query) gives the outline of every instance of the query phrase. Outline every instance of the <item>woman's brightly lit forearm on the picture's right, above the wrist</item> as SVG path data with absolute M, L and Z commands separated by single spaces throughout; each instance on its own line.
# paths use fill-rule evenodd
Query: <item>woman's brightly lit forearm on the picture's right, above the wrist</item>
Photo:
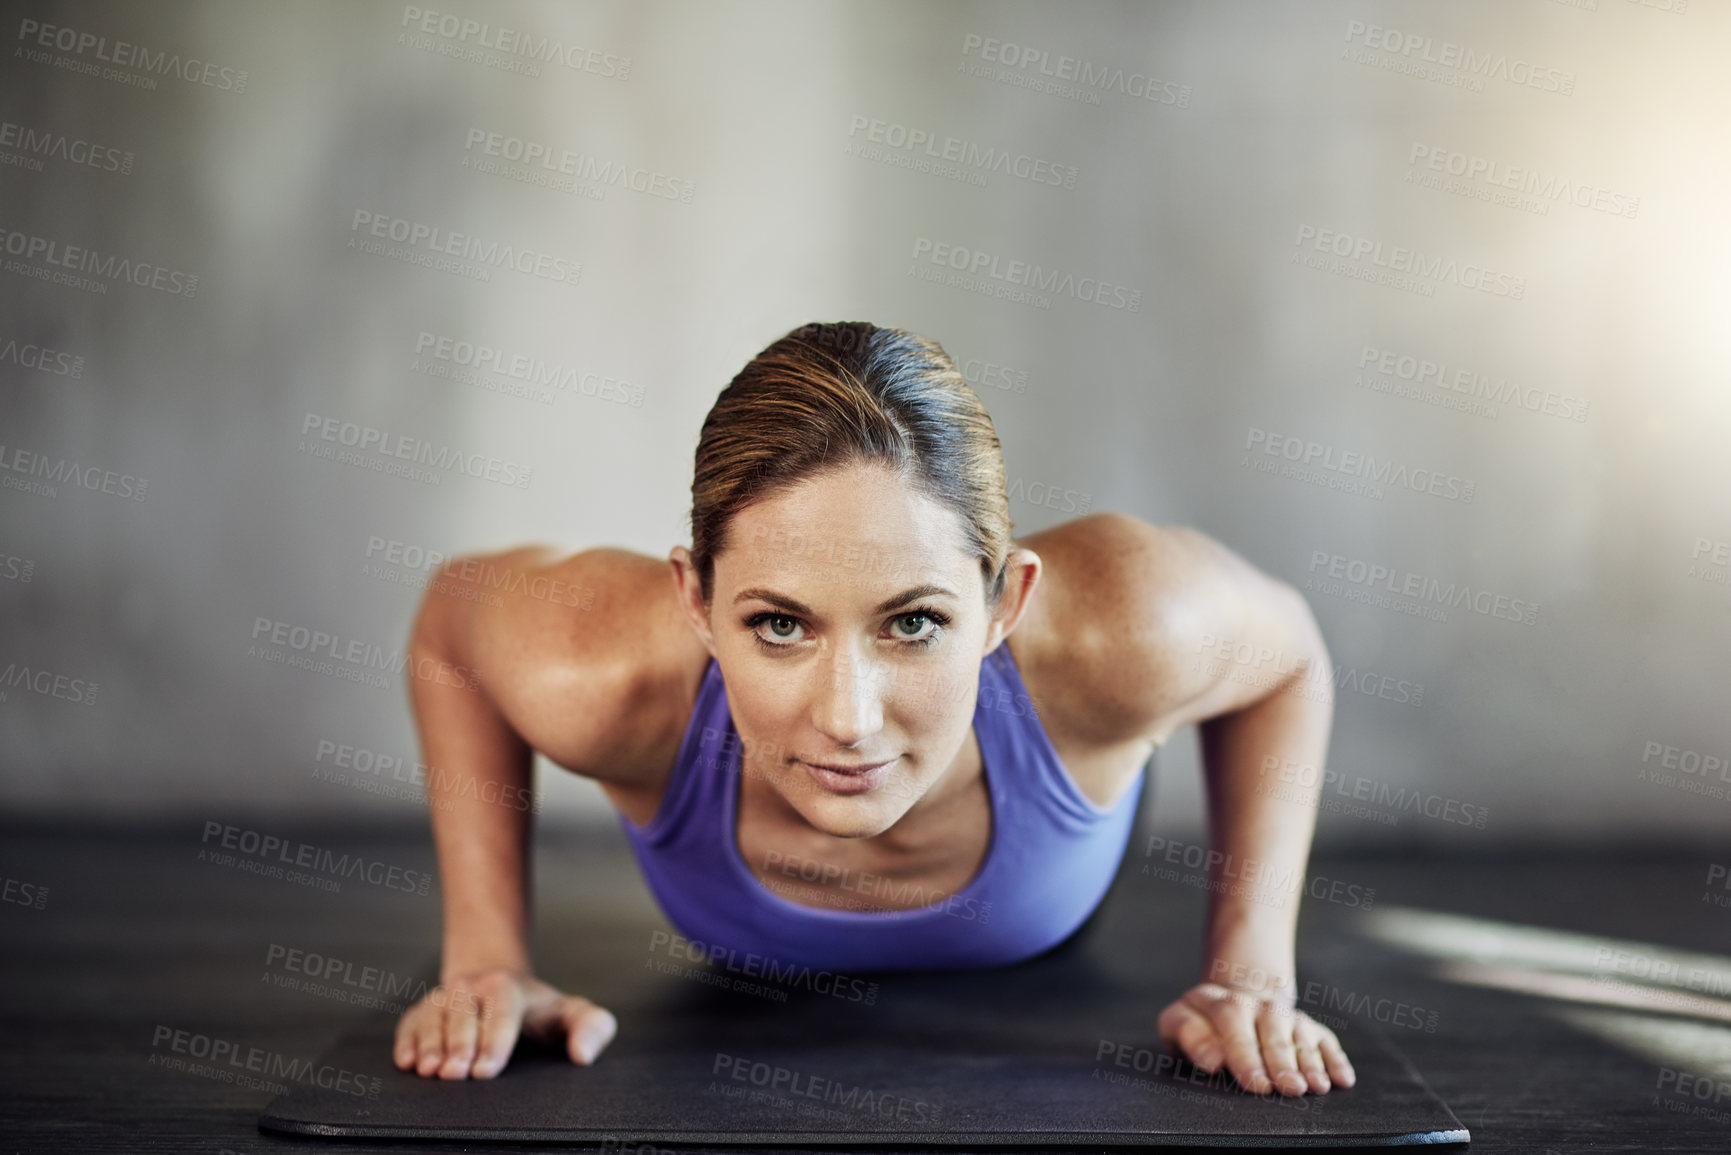
M 1210 982 L 1271 994 L 1290 994 L 1297 982 L 1298 904 L 1335 713 L 1329 672 L 1317 637 L 1309 661 L 1267 696 L 1201 724 L 1215 859 L 1203 961 Z

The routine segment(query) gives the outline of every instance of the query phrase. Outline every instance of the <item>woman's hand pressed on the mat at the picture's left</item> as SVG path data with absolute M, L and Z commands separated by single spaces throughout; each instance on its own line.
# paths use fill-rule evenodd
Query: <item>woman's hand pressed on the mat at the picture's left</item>
M 448 978 L 403 1011 L 391 1058 L 428 1079 L 492 1079 L 518 1036 L 561 1042 L 573 1063 L 587 1067 L 616 1030 L 613 1013 L 582 996 L 533 975 L 490 970 Z

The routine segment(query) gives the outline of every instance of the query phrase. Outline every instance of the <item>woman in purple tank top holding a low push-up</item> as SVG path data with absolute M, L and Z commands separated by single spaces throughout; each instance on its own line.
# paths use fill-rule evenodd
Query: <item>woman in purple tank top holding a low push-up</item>
M 1329 696 L 1279 693 L 1329 668 L 1303 599 L 1122 514 L 1013 542 L 992 421 L 936 343 L 848 322 L 765 348 L 703 424 L 691 521 L 666 563 L 521 549 L 483 559 L 530 578 L 493 604 L 462 578 L 422 603 L 415 663 L 481 686 L 412 684 L 450 771 L 429 788 L 445 942 L 398 1067 L 488 1079 L 519 1034 L 590 1063 L 616 1030 L 533 977 L 528 816 L 483 802 L 523 797 L 533 752 L 601 784 L 680 933 L 788 965 L 995 966 L 1063 942 L 1118 869 L 1153 750 L 1191 722 L 1213 847 L 1303 876 L 1314 798 L 1258 790 L 1265 758 L 1326 753 Z M 533 596 L 550 589 L 592 608 Z M 1203 661 L 1205 639 L 1288 674 Z M 1203 982 L 1160 1036 L 1257 1094 L 1352 1086 L 1295 1008 L 1279 899 L 1210 892 Z

